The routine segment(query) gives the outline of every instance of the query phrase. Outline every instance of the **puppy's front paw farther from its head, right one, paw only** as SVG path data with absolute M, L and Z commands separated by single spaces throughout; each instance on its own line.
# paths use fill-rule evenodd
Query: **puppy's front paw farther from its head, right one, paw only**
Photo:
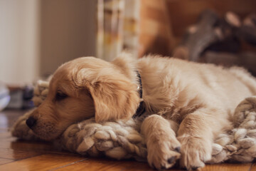
M 205 166 L 205 162 L 210 160 L 212 145 L 210 140 L 203 138 L 180 137 L 181 160 L 180 166 L 187 170 L 196 170 Z

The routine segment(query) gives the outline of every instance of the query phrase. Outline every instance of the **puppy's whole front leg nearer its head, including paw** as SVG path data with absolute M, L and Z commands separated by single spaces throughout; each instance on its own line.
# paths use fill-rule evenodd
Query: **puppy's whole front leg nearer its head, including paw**
M 168 120 L 160 115 L 150 115 L 142 123 L 148 150 L 147 160 L 151 167 L 168 169 L 180 157 L 180 143 Z

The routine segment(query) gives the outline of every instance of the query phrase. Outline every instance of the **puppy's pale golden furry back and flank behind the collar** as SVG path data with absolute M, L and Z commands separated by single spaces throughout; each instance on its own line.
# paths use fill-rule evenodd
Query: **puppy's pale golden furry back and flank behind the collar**
M 241 100 L 256 93 L 255 78 L 239 68 L 157 56 L 139 59 L 138 67 L 149 96 L 186 91 L 187 98 L 200 96 L 206 103 L 233 112 Z M 169 90 L 163 90 L 166 88 Z M 169 93 L 169 97 L 177 98 L 174 93 Z

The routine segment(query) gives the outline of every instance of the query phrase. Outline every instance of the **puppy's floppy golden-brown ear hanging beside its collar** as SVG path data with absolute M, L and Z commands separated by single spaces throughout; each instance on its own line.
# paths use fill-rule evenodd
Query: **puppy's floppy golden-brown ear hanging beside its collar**
M 137 86 L 123 76 L 112 76 L 90 86 L 96 122 L 128 119 L 137 110 Z

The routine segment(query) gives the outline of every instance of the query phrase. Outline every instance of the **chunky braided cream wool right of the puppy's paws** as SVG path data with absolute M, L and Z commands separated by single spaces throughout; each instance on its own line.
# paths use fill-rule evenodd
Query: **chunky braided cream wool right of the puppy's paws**
M 252 162 L 256 157 L 256 96 L 245 98 L 235 109 L 234 128 L 218 135 L 208 163 Z

